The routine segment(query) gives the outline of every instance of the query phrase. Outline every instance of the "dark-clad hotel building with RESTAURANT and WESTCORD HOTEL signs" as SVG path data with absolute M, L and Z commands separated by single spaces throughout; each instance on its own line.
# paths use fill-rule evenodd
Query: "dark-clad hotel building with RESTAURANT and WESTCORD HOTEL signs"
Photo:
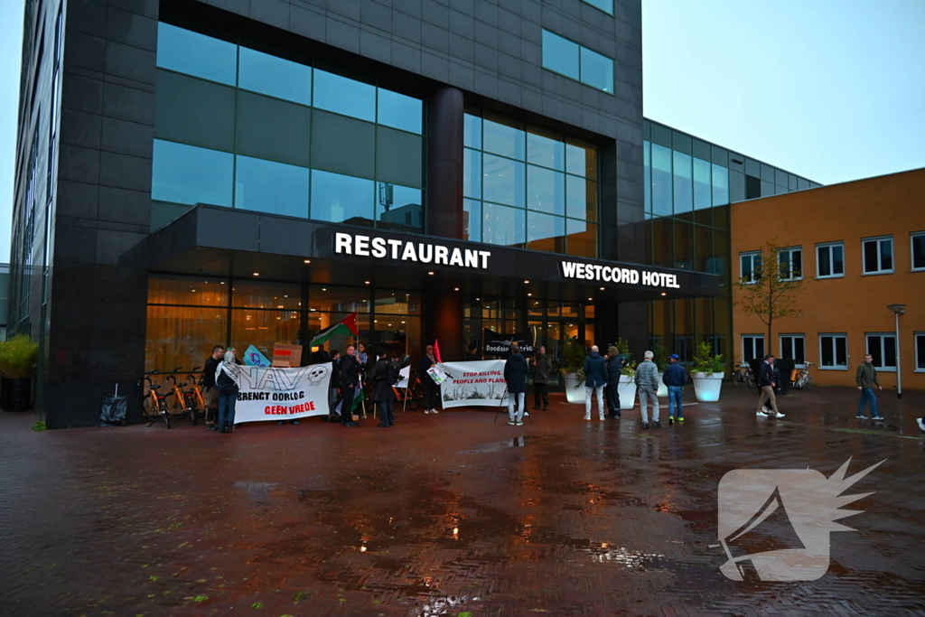
M 806 188 L 644 121 L 638 0 L 35 0 L 24 50 L 8 323 L 48 426 L 352 312 L 450 360 L 728 339 L 728 204 Z

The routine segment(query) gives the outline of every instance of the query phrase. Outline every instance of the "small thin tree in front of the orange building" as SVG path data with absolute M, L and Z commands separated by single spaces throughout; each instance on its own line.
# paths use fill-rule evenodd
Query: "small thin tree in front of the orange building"
M 761 249 L 759 265 L 752 272 L 742 273 L 736 283 L 742 291 L 742 300 L 736 302 L 742 312 L 758 315 L 768 327 L 768 353 L 774 320 L 803 313 L 796 303 L 796 292 L 803 289 L 802 264 L 794 264 L 790 253 L 784 257 L 781 248 L 777 239 L 771 238 Z

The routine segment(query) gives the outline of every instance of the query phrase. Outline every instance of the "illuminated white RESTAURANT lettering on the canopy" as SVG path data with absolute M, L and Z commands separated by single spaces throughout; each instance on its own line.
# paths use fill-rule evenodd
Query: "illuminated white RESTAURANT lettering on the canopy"
M 389 258 L 403 262 L 420 262 L 434 265 L 487 270 L 491 251 L 476 249 L 450 249 L 445 244 L 386 240 L 376 236 L 337 232 L 334 234 L 334 253 L 359 257 Z

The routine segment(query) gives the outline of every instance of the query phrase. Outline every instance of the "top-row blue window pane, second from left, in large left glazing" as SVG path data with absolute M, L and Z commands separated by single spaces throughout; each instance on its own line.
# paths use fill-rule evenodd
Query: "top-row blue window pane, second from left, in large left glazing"
M 241 47 L 238 87 L 312 105 L 312 68 Z

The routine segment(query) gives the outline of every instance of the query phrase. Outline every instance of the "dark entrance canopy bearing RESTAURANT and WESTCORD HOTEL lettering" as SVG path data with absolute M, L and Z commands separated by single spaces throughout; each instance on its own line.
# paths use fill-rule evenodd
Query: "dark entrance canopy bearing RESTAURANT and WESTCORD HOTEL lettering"
M 717 275 L 198 205 L 126 253 L 150 271 L 584 302 L 716 296 Z

